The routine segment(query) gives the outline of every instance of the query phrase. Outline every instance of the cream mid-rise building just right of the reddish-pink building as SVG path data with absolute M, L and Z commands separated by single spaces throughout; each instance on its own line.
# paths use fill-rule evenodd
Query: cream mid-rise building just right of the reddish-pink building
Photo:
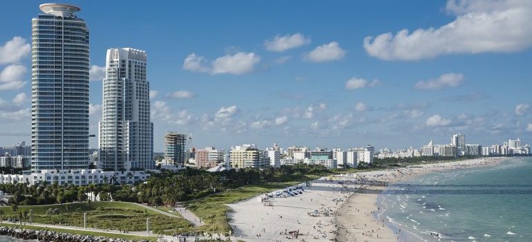
M 255 145 L 238 145 L 231 147 L 230 165 L 238 168 L 260 168 L 267 165 L 268 159 L 265 151 L 257 149 Z

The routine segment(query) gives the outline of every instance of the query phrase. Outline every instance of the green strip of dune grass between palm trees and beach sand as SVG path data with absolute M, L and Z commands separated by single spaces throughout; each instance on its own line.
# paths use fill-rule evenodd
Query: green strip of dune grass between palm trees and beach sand
M 296 180 L 285 183 L 247 185 L 237 189 L 231 189 L 227 192 L 223 192 L 222 194 L 216 194 L 196 201 L 190 201 L 187 203 L 187 209 L 191 210 L 205 223 L 205 225 L 197 227 L 196 231 L 226 233 L 231 230 L 229 223 L 227 223 L 227 212 L 229 212 L 229 207 L 226 204 L 243 201 L 258 194 L 271 192 L 275 189 L 280 189 L 283 187 L 289 187 L 308 180 L 314 180 L 319 177 L 321 176 L 305 175 Z

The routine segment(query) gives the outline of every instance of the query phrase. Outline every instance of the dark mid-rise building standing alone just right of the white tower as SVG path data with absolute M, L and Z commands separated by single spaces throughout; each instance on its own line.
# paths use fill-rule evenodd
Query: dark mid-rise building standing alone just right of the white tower
M 184 165 L 187 160 L 187 140 L 188 136 L 182 133 L 167 133 L 164 136 L 165 165 Z

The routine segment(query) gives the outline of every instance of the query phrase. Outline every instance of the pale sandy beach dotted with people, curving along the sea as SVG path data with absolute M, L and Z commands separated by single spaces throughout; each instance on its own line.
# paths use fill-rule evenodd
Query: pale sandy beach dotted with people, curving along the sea
M 244 241 L 397 241 L 395 234 L 377 221 L 377 198 L 387 183 L 419 174 L 495 165 L 502 158 L 477 158 L 397 169 L 362 171 L 312 181 L 297 196 L 264 195 L 230 204 L 233 236 Z M 297 234 L 297 235 L 295 235 Z

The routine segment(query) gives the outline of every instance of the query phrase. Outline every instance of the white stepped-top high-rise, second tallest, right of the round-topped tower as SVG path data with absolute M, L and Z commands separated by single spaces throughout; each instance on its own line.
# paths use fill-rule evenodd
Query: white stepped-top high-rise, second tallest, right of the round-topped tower
M 108 49 L 103 117 L 99 122 L 99 168 L 155 168 L 149 93 L 146 52 Z

